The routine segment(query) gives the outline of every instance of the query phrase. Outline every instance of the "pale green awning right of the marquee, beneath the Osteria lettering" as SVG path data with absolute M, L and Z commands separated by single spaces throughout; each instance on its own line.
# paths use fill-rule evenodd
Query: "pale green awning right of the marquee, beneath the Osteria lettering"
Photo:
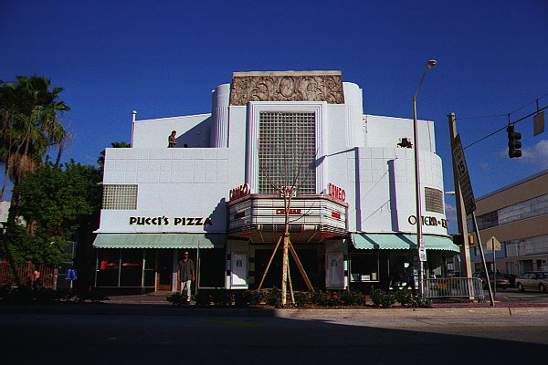
M 351 234 L 353 246 L 364 250 L 409 250 L 416 249 L 416 235 L 411 234 Z M 427 250 L 459 252 L 446 235 L 423 235 Z

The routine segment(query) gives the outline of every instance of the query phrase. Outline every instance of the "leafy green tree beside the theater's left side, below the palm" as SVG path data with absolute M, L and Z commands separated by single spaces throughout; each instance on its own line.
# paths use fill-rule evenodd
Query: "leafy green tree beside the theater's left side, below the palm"
M 5 235 L 16 260 L 60 265 L 67 261 L 81 225 L 100 212 L 102 176 L 98 169 L 70 161 L 60 166 L 48 160 L 17 184 L 21 222 Z

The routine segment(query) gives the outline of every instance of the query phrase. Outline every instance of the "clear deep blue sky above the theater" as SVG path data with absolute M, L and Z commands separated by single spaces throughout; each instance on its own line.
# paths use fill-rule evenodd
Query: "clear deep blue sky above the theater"
M 0 79 L 43 75 L 71 111 L 65 160 L 94 164 L 137 119 L 207 113 L 234 71 L 341 70 L 364 112 L 436 122 L 453 191 L 448 113 L 464 146 L 548 105 L 548 2 L 0 0 Z M 548 111 L 547 111 L 548 112 Z M 499 133 L 466 149 L 476 197 L 548 169 L 548 132 L 516 124 L 523 156 Z M 454 198 L 446 197 L 449 231 Z

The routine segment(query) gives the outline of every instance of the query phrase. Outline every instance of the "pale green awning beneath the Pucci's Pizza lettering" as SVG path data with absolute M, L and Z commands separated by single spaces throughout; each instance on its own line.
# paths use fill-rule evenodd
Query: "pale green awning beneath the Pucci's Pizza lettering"
M 98 234 L 95 248 L 223 248 L 226 234 Z

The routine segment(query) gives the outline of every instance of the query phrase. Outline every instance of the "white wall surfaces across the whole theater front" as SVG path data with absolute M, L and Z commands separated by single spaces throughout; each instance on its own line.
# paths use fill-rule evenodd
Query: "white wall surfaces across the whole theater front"
M 328 183 L 345 190 L 349 204 L 347 229 L 358 232 L 409 232 L 415 208 L 414 150 L 398 147 L 402 138 L 413 141 L 413 120 L 364 115 L 362 90 L 343 83 L 345 104 L 311 102 L 318 110 L 321 132 L 317 193 Z M 137 210 L 101 212 L 100 232 L 224 232 L 225 202 L 230 189 L 250 183 L 255 193 L 256 169 L 248 167 L 248 106 L 227 106 L 227 85 L 217 88 L 211 114 L 136 120 L 132 149 L 107 149 L 105 184 L 139 185 Z M 276 108 L 299 105 L 273 103 Z M 217 114 L 222 110 L 222 118 Z M 285 108 L 285 107 L 284 107 Z M 226 113 L 226 114 L 225 114 Z M 219 117 L 219 118 L 217 118 Z M 227 124 L 223 124 L 227 123 Z M 177 147 L 167 148 L 167 137 L 177 130 Z M 443 192 L 441 159 L 435 154 L 434 123 L 419 120 L 420 172 L 423 187 Z M 225 133 L 227 137 L 225 138 Z M 217 146 L 214 148 L 211 144 Z M 224 146 L 225 147 L 218 147 Z M 251 150 L 251 153 L 253 150 Z M 445 219 L 444 214 L 423 215 Z M 212 225 L 136 225 L 131 217 L 212 217 Z M 173 222 L 173 221 L 172 221 Z M 423 226 L 425 234 L 447 235 L 447 229 Z

